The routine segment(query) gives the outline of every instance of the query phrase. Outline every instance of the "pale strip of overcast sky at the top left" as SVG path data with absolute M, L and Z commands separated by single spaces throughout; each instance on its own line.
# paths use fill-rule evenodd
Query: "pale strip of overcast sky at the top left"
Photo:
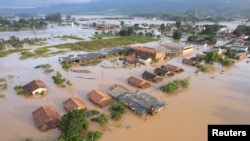
M 0 7 L 5 6 L 48 6 L 60 3 L 83 3 L 93 0 L 0 0 Z

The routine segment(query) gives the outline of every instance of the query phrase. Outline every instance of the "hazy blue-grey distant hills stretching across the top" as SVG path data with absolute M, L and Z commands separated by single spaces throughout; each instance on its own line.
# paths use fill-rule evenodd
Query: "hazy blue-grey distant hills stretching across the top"
M 209 13 L 228 14 L 247 11 L 249 5 L 250 0 L 93 0 L 88 3 L 57 4 L 38 8 L 0 8 L 0 13 L 131 14 L 138 12 L 184 12 L 190 9 L 202 9 Z

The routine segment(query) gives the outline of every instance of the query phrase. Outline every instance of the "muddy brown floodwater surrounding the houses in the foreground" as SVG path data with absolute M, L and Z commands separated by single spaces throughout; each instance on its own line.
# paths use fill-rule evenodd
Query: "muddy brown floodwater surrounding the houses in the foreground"
M 89 109 L 107 112 L 107 108 L 99 108 L 86 96 L 93 89 L 107 91 L 114 83 L 127 86 L 130 75 L 140 77 L 144 70 L 153 72 L 152 66 L 141 66 L 133 69 L 75 67 L 90 70 L 91 73 L 73 73 L 61 70 L 58 57 L 19 60 L 18 54 L 0 59 L 0 78 L 6 78 L 8 90 L 0 91 L 5 98 L 0 98 L 0 140 L 20 141 L 27 137 L 34 140 L 56 140 L 57 129 L 40 132 L 34 125 L 32 112 L 42 105 L 55 106 L 58 113 L 65 114 L 62 102 L 69 97 L 81 98 Z M 100 130 L 103 136 L 100 141 L 206 141 L 208 124 L 250 124 L 250 64 L 246 60 L 236 62 L 230 68 L 217 66 L 212 73 L 195 74 L 195 68 L 182 65 L 181 58 L 174 58 L 166 63 L 184 68 L 184 72 L 171 78 L 165 78 L 159 84 L 143 90 L 167 103 L 164 110 L 154 116 L 141 118 L 128 110 L 122 119 L 109 121 L 106 129 L 93 124 L 91 129 Z M 104 65 L 107 65 L 103 63 Z M 58 88 L 54 85 L 51 74 L 44 74 L 42 69 L 34 69 L 39 64 L 49 63 L 55 71 L 60 71 L 66 79 L 73 83 L 72 88 Z M 166 64 L 164 63 L 164 64 Z M 14 76 L 9 78 L 8 76 Z M 174 79 L 190 77 L 187 90 L 176 94 L 165 94 L 159 86 Z M 84 79 L 95 78 L 95 79 Z M 49 94 L 42 98 L 25 98 L 15 94 L 13 87 L 28 83 L 33 79 L 43 80 Z

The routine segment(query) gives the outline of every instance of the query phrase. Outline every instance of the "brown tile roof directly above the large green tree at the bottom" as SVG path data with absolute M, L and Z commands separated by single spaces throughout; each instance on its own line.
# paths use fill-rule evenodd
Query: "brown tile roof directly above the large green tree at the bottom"
M 69 98 L 68 100 L 63 102 L 63 106 L 66 111 L 71 111 L 74 109 L 80 110 L 87 108 L 86 104 L 83 103 L 83 101 L 78 97 Z

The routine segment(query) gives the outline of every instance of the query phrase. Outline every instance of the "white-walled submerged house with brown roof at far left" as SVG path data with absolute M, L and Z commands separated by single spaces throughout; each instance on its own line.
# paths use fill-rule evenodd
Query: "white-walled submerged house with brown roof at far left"
M 25 96 L 36 95 L 36 94 L 44 94 L 47 92 L 47 87 L 45 83 L 41 80 L 33 80 L 23 87 L 23 94 Z

